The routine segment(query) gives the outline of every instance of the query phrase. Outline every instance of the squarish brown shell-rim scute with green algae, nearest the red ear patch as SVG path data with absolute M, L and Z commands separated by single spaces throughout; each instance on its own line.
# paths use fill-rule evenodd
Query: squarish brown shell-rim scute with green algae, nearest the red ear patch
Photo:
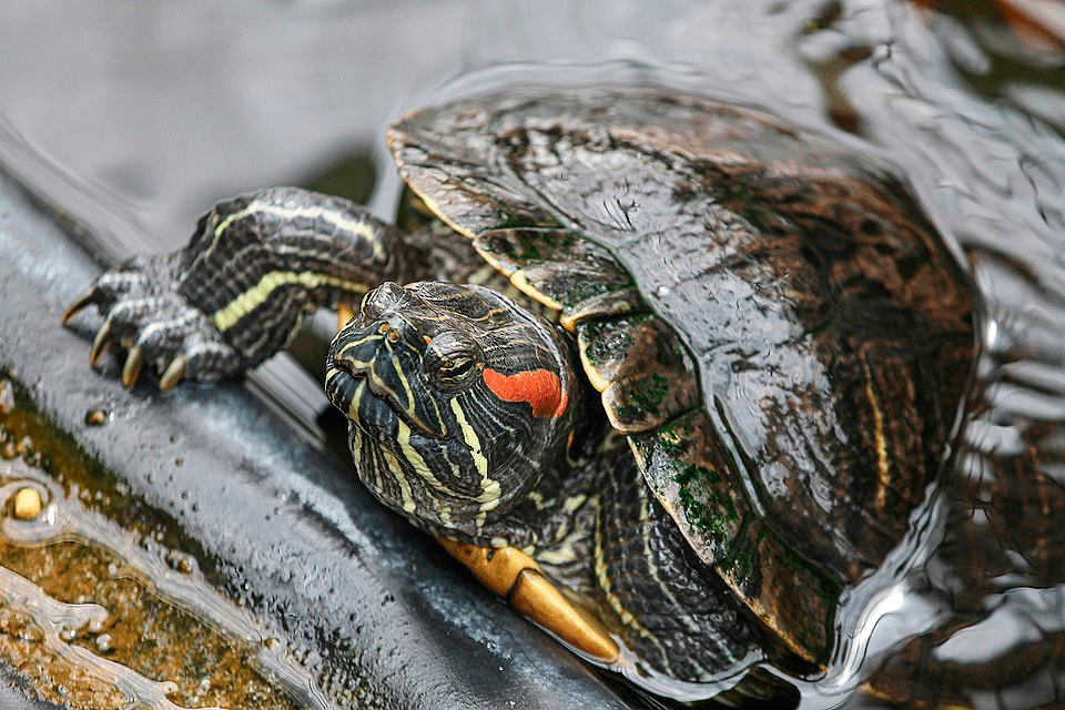
M 700 405 L 691 356 L 658 316 L 580 323 L 577 344 L 588 379 L 602 393 L 607 417 L 619 432 L 646 432 Z

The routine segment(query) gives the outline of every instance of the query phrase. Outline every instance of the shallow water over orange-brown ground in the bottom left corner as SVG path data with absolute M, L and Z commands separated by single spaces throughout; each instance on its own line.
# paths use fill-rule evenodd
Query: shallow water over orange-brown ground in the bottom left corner
M 145 529 L 128 511 L 114 516 L 120 525 L 97 509 L 120 490 L 16 406 L 12 387 L 0 379 L 6 662 L 43 699 L 71 707 L 332 707 L 258 619 L 205 581 L 195 558 L 161 542 L 164 524 Z M 40 510 L 20 519 L 11 503 L 27 489 Z

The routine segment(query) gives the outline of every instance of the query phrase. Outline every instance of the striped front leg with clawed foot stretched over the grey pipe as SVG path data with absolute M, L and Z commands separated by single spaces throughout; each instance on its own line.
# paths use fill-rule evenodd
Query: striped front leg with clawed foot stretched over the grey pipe
M 104 322 L 93 365 L 112 344 L 129 348 L 122 381 L 145 364 L 160 387 L 242 374 L 282 349 L 303 316 L 404 278 L 396 231 L 339 197 L 275 187 L 217 203 L 189 245 L 134 256 L 102 274 L 63 314 L 97 305 Z

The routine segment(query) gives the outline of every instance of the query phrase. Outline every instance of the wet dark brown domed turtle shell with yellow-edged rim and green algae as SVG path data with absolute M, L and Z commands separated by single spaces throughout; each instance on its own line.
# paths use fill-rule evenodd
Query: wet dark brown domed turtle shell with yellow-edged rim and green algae
M 397 122 L 400 173 L 577 337 L 692 549 L 824 662 L 943 465 L 964 277 L 900 182 L 754 110 L 529 88 Z

